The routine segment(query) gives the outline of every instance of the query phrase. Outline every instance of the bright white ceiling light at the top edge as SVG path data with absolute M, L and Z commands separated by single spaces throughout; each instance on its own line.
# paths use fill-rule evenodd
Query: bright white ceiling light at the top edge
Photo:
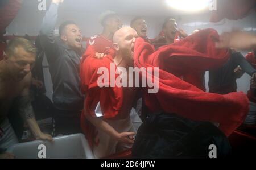
M 166 0 L 166 3 L 177 10 L 195 12 L 207 9 L 212 1 L 214 0 Z

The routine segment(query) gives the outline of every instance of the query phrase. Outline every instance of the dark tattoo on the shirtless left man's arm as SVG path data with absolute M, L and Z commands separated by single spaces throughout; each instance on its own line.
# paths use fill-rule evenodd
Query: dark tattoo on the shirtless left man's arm
M 18 107 L 19 113 L 22 116 L 23 120 L 26 121 L 27 119 L 34 118 L 34 110 L 31 105 L 30 96 L 18 96 Z

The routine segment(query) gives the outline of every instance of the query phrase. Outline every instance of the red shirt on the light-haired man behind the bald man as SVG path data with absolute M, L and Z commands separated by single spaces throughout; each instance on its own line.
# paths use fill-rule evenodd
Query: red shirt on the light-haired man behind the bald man
M 95 35 L 92 36 L 88 41 L 87 41 L 87 47 L 93 46 L 95 52 L 99 53 L 108 53 L 108 50 L 112 48 L 112 41 L 104 38 L 101 35 Z

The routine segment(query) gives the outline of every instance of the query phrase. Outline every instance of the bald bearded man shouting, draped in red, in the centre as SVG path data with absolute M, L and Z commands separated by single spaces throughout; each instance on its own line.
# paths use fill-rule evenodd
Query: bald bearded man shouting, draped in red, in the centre
M 93 135 L 87 133 L 86 137 L 88 140 L 93 140 L 91 147 L 96 158 L 126 150 L 131 148 L 133 144 L 135 129 L 131 123 L 130 111 L 135 100 L 136 89 L 133 87 L 100 88 L 97 86 L 97 76 L 95 78 L 94 72 L 97 72 L 104 65 L 110 72 L 108 65 L 111 64 L 115 65 L 117 72 L 119 72 L 119 67 L 125 68 L 128 72 L 128 68 L 133 67 L 133 48 L 137 37 L 137 32 L 133 28 L 123 27 L 115 32 L 113 36 L 114 52 L 112 55 L 108 55 L 102 60 L 96 59 L 94 55 L 84 56 L 86 59 L 82 60 L 80 76 L 82 87 L 84 87 L 83 91 L 87 96 L 81 125 L 85 134 L 86 131 L 88 132 L 88 128 L 85 127 L 88 126 L 88 123 L 85 123 L 85 121 L 89 121 L 95 128 Z M 127 74 L 126 77 L 127 82 L 129 82 L 129 75 Z M 96 85 L 92 83 L 95 80 Z M 118 90 L 121 90 L 121 92 Z M 110 91 L 111 93 L 108 93 Z M 119 96 L 121 97 L 118 98 Z M 104 97 L 104 99 L 101 99 L 101 97 Z M 121 100 L 122 104 L 119 107 L 118 102 Z M 109 105 L 112 105 L 115 101 L 117 101 L 117 105 L 109 108 Z M 113 113 L 109 111 L 112 108 L 114 108 Z

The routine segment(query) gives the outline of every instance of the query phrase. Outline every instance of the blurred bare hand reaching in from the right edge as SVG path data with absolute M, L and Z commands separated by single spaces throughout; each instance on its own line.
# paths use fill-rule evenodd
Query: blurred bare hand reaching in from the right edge
M 220 41 L 216 42 L 216 48 L 249 50 L 255 46 L 256 36 L 242 31 L 224 32 L 220 35 Z

